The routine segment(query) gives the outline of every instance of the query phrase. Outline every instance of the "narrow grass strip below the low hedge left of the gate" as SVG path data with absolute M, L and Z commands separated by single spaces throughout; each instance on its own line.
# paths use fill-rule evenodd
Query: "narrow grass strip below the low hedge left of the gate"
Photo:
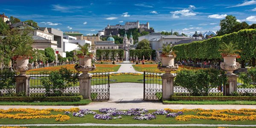
M 90 99 L 82 99 L 79 102 L 0 102 L 0 105 L 88 105 Z

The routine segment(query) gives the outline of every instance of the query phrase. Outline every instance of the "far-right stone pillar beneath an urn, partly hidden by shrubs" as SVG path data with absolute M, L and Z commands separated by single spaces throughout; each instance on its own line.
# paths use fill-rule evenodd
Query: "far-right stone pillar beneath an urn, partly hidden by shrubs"
M 227 82 L 224 86 L 224 96 L 230 96 L 231 93 L 237 91 L 237 75 L 227 75 Z

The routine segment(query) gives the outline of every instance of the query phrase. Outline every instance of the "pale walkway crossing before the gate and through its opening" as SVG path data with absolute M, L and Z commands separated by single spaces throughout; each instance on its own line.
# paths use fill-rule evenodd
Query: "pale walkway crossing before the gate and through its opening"
M 44 105 L 0 105 L 1 109 L 9 108 L 86 108 L 90 110 L 98 110 L 100 108 L 118 108 L 127 110 L 130 108 L 145 109 L 256 109 L 256 105 L 164 105 L 162 102 L 143 101 L 143 84 L 141 83 L 113 83 L 110 84 L 110 100 L 108 102 L 92 102 L 84 106 L 44 106 Z

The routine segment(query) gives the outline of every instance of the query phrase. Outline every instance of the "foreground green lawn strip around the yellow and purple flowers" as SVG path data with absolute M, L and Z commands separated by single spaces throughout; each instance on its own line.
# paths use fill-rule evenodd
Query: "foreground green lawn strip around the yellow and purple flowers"
M 149 113 L 155 110 L 149 110 Z M 96 111 L 99 113 L 99 111 Z M 196 115 L 195 112 L 185 112 L 184 115 Z M 51 114 L 64 114 L 64 112 L 51 112 Z M 239 114 L 240 115 L 240 114 Z M 71 114 L 70 120 L 64 122 L 56 122 L 55 118 L 50 119 L 0 119 L 0 124 L 78 124 L 78 123 L 104 123 L 104 124 L 237 124 L 237 125 L 256 125 L 256 121 L 221 121 L 221 120 L 206 120 L 192 119 L 191 121 L 177 121 L 175 118 L 166 118 L 164 115 L 158 115 L 157 119 L 153 120 L 134 120 L 133 116 L 122 116 L 122 119 L 99 120 L 94 119 L 94 115 L 86 115 L 84 117 L 74 117 Z M 57 127 L 58 128 L 58 127 Z

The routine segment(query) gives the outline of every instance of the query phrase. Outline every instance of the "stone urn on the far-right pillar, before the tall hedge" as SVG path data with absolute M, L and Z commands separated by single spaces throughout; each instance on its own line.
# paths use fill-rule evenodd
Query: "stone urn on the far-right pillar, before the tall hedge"
M 221 69 L 227 71 L 227 75 L 236 75 L 233 73 L 240 66 L 239 62 L 236 62 L 237 55 L 227 55 L 224 56 L 224 62 L 221 62 Z

